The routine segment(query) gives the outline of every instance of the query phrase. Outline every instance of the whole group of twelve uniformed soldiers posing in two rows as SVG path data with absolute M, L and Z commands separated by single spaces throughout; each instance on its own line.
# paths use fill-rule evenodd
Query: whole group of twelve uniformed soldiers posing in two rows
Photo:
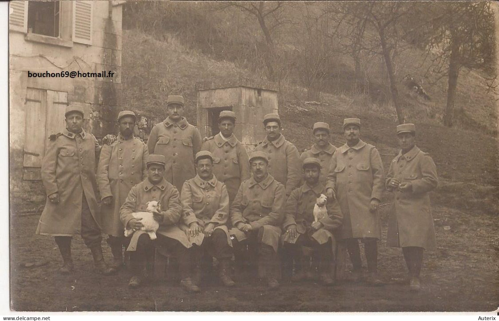
M 217 259 L 227 287 L 235 285 L 233 257 L 238 271 L 249 267 L 270 289 L 279 287 L 284 271 L 293 282 L 311 280 L 317 271 L 324 285 L 332 285 L 341 249 L 353 266 L 349 280 L 380 285 L 378 207 L 386 189 L 394 194 L 388 245 L 402 247 L 408 275 L 401 282 L 420 289 L 423 251 L 435 247 L 428 192 L 438 177 L 432 158 L 415 145 L 413 124 L 397 126 L 401 150 L 385 177 L 378 150 L 360 139 L 356 118 L 344 120 L 346 144 L 340 148 L 330 143 L 329 125 L 315 123 L 314 144 L 300 157 L 281 134 L 279 115 L 267 114 L 266 137 L 248 155 L 233 134 L 234 112 L 222 111 L 220 133 L 203 141 L 183 117 L 182 96 L 168 96 L 166 106 L 169 116 L 153 127 L 147 145 L 134 137 L 135 113 L 122 111 L 119 134 L 104 137 L 102 146 L 82 129 L 83 110 L 66 108 L 66 130 L 49 137 L 42 163 L 47 202 L 36 230 L 55 237 L 61 273 L 73 270 L 71 239 L 81 234 L 104 275 L 124 266 L 126 249 L 131 288 L 144 284 L 159 253 L 176 258 L 181 285 L 190 292 L 200 291 L 206 257 Z M 321 194 L 327 196 L 327 215 L 315 219 Z M 153 213 L 159 223 L 154 240 L 133 215 L 151 201 L 160 205 Z M 125 237 L 124 228 L 135 232 Z M 102 233 L 113 255 L 109 265 L 102 255 Z

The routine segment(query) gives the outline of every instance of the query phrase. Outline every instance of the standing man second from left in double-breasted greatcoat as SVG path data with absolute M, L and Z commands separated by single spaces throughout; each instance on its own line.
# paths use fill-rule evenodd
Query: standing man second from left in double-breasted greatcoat
M 147 177 L 147 146 L 133 136 L 135 113 L 122 111 L 118 114 L 120 133 L 116 142 L 102 147 L 97 166 L 97 184 L 102 199 L 102 231 L 109 235 L 107 242 L 113 254 L 113 268 L 123 266 L 123 224 L 120 207 L 132 186 Z

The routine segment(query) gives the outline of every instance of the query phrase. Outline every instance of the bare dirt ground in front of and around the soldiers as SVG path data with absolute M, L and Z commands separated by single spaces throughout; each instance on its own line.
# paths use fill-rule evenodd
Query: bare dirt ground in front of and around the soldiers
M 60 255 L 53 238 L 36 236 L 38 216 L 11 218 L 11 309 L 15 311 L 493 311 L 499 306 L 499 217 L 434 207 L 438 248 L 425 253 L 422 290 L 411 293 L 392 278 L 403 277 L 401 250 L 386 247 L 388 207 L 380 210 L 383 239 L 379 242 L 379 271 L 383 286 L 362 282 L 320 284 L 281 283 L 268 291 L 253 279 L 238 278 L 227 289 L 209 280 L 199 294 L 186 293 L 172 281 L 150 282 L 129 290 L 129 273 L 114 276 L 93 272 L 89 250 L 73 240 L 75 272 L 57 273 Z M 444 228 L 445 227 L 445 228 Z M 450 229 L 449 229 L 450 228 Z M 105 244 L 105 241 L 103 241 Z M 104 245 L 105 257 L 110 249 Z M 48 260 L 23 268 L 27 261 Z M 365 260 L 364 260 L 365 265 Z M 347 269 L 350 267 L 347 260 Z

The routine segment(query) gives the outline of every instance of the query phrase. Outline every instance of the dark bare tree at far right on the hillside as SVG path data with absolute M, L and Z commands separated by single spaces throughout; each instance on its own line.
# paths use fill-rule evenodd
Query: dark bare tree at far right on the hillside
M 448 77 L 447 105 L 444 125 L 452 127 L 456 117 L 463 117 L 462 107 L 456 109 L 459 73 L 463 67 L 482 69 L 488 73 L 489 88 L 496 79 L 494 12 L 488 1 L 443 1 L 420 6 L 413 18 L 426 20 L 416 39 L 427 50 L 430 70 Z

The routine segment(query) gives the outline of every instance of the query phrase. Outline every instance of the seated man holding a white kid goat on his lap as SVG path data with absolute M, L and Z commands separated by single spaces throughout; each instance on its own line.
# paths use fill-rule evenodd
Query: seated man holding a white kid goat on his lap
M 165 157 L 163 155 L 149 155 L 147 164 L 147 179 L 133 186 L 125 203 L 120 208 L 120 219 L 123 226 L 136 230 L 129 237 L 127 251 L 130 254 L 132 278 L 128 283 L 130 288 L 137 288 L 144 279 L 144 269 L 154 262 L 155 247 L 176 257 L 179 261 L 182 286 L 191 292 L 200 289 L 192 282 L 190 276 L 190 257 L 187 251 L 192 246 L 180 228 L 179 222 L 182 212 L 179 191 L 175 186 L 163 178 L 165 171 Z M 154 219 L 159 223 L 156 232 L 157 238 L 153 241 L 149 234 L 140 230 L 143 224 L 132 213 L 145 211 L 147 203 L 158 201 L 161 212 L 154 212 Z

